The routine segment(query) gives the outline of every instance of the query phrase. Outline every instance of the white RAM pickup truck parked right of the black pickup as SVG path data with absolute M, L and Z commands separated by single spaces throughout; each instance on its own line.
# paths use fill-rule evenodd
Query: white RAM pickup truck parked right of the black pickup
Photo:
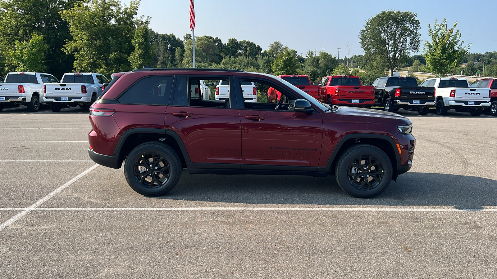
M 470 88 L 466 78 L 433 77 L 424 80 L 420 86 L 435 87 L 438 115 L 455 109 L 479 116 L 484 108 L 490 107 L 490 88 Z

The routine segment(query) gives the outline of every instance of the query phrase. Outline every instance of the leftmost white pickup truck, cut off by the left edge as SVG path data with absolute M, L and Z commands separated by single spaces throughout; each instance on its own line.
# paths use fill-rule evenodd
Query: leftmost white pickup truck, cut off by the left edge
M 49 73 L 9 72 L 0 83 L 0 111 L 6 103 L 24 105 L 30 112 L 37 112 L 43 102 L 43 83 L 59 82 Z M 41 101 L 40 101 L 41 100 Z

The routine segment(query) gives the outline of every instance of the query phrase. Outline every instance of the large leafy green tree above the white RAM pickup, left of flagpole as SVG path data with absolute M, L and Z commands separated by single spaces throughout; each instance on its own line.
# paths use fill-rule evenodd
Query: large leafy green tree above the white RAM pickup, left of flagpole
M 131 0 L 123 7 L 118 0 L 92 0 L 62 11 L 73 36 L 64 50 L 74 55 L 75 70 L 105 75 L 132 70 L 128 58 L 134 51 L 131 42 L 139 4 Z

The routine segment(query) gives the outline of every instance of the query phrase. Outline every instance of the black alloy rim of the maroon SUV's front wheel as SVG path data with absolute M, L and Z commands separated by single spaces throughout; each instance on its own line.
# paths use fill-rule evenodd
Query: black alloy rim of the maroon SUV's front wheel
M 385 170 L 373 156 L 359 156 L 349 164 L 348 181 L 359 190 L 372 190 L 381 184 Z

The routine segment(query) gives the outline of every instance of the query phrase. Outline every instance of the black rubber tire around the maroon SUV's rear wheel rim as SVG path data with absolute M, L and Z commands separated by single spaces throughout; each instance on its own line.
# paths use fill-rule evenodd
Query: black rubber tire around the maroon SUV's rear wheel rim
M 148 188 L 136 180 L 134 174 L 134 165 L 138 158 L 147 153 L 158 153 L 161 156 L 164 156 L 167 163 L 170 166 L 169 169 L 169 179 L 166 181 L 166 184 L 157 187 L 157 188 Z M 150 142 L 143 143 L 135 147 L 128 154 L 126 161 L 124 163 L 124 174 L 126 177 L 126 181 L 129 186 L 137 193 L 144 196 L 162 196 L 169 192 L 179 180 L 179 176 L 181 175 L 181 164 L 179 161 L 179 156 L 176 151 L 172 149 L 170 146 L 157 142 L 155 144 L 150 144 Z

